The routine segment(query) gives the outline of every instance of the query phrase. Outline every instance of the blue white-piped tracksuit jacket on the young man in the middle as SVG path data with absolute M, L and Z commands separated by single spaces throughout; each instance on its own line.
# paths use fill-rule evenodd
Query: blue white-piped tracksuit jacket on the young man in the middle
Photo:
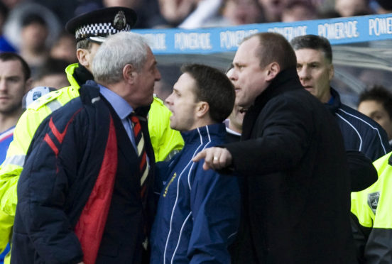
M 185 147 L 158 163 L 166 179 L 151 233 L 151 263 L 230 263 L 227 251 L 239 226 L 236 177 L 203 170 L 192 162 L 200 150 L 224 143 L 223 123 L 183 133 Z

